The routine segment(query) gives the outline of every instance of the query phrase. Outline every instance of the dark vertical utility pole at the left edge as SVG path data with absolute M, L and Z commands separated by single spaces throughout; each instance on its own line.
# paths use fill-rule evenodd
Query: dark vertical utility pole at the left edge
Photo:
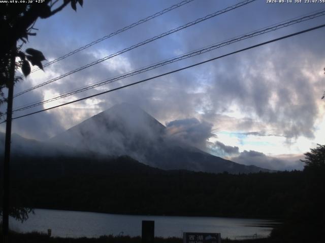
M 12 103 L 14 94 L 16 64 L 16 42 L 11 50 L 10 69 L 8 80 L 8 100 L 7 100 L 7 120 L 6 120 L 6 139 L 5 139 L 5 160 L 4 160 L 4 196 L 3 196 L 3 242 L 8 243 L 9 239 L 9 197 L 10 197 L 10 143 L 11 143 L 11 119 Z

